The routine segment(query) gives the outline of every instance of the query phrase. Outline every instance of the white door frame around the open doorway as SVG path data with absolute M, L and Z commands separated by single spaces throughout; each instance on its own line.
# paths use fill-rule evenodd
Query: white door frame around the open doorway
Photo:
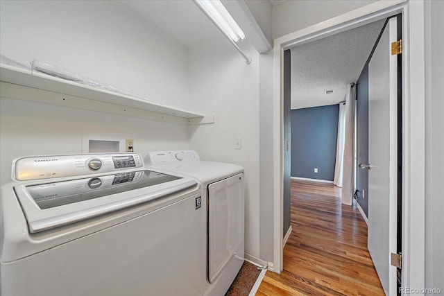
M 273 48 L 273 265 L 283 268 L 284 50 L 402 13 L 402 286 L 425 286 L 424 0 L 376 1 L 275 39 Z

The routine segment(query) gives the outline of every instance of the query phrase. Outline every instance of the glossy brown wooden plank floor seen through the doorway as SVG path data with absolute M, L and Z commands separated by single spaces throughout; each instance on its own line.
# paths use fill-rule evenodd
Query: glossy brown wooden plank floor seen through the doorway
M 284 270 L 267 271 L 256 295 L 384 295 L 367 250 L 367 225 L 332 184 L 291 180 L 293 232 Z

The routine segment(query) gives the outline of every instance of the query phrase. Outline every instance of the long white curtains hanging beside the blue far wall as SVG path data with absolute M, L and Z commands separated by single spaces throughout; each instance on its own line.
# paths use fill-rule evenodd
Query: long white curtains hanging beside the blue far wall
M 336 144 L 336 167 L 334 184 L 342 186 L 342 203 L 352 204 L 353 201 L 353 129 L 355 119 L 356 87 L 347 85 L 345 95 L 345 113 L 341 117 L 339 107 L 338 143 Z M 343 108 L 343 107 L 342 107 Z M 343 126 L 341 126 L 343 125 Z M 341 161 L 342 159 L 342 161 Z

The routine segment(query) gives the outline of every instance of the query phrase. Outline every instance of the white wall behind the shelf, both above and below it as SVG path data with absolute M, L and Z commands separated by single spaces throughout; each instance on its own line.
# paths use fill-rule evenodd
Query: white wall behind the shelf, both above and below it
M 188 50 L 117 1 L 1 1 L 1 53 L 34 58 L 176 107 L 189 106 Z M 83 137 L 189 148 L 187 125 L 1 98 L 1 184 L 14 157 L 81 153 Z

